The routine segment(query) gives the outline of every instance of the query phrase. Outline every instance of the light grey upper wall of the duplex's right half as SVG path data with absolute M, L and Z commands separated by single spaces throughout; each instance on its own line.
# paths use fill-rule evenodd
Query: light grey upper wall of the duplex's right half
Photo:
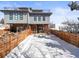
M 28 23 L 29 24 L 49 24 L 49 16 L 45 16 L 45 21 L 43 21 L 43 16 L 41 16 L 41 21 L 38 21 L 38 16 L 37 15 L 37 21 L 34 21 L 34 16 L 29 16 L 29 20 L 28 20 Z

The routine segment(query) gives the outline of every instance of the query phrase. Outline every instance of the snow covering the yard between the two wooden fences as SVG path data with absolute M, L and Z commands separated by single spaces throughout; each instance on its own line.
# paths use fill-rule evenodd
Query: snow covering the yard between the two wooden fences
M 79 48 L 55 35 L 33 34 L 23 40 L 5 58 L 75 58 Z

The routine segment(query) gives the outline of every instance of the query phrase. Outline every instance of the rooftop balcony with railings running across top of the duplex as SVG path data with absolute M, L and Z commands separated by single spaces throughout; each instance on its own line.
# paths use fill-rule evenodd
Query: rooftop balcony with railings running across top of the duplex
M 27 7 L 4 7 L 3 10 L 16 10 L 16 11 L 28 11 L 30 13 L 52 13 L 46 9 L 32 9 Z

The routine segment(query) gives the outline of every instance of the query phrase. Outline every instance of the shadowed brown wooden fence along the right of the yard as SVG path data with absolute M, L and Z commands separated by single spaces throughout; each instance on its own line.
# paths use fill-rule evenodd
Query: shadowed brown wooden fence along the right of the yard
M 69 32 L 57 31 L 57 30 L 50 30 L 50 32 L 58 36 L 62 40 L 79 47 L 79 35 Z

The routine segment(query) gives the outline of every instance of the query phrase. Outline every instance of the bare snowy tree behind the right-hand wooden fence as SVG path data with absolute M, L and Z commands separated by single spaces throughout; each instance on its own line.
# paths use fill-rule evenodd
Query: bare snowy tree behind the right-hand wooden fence
M 63 26 L 60 27 L 60 30 L 78 33 L 79 32 L 79 23 L 78 22 L 71 22 L 71 21 L 64 21 L 62 22 Z

